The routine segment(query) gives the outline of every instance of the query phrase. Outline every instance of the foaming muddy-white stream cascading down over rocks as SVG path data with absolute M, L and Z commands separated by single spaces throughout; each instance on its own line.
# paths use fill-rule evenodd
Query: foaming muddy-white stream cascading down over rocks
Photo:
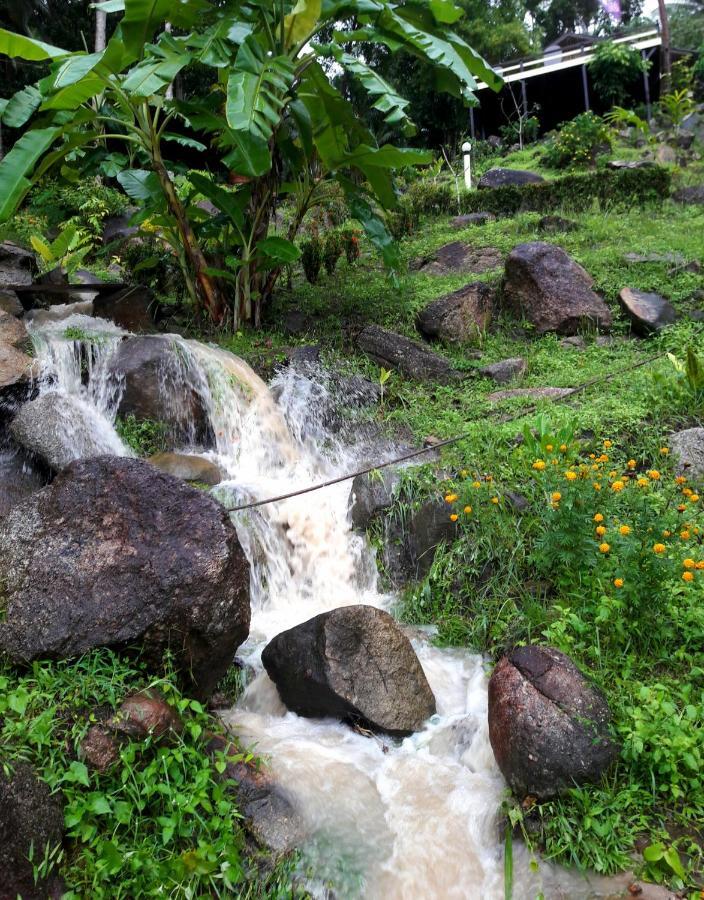
M 109 452 L 127 453 L 113 427 L 120 379 L 107 374 L 124 333 L 77 316 L 38 325 L 32 336 L 41 390 L 53 391 L 57 403 L 62 396 L 78 398 L 91 410 L 91 427 L 104 432 Z M 226 351 L 175 336 L 164 340 L 178 345 L 184 363 L 164 379 L 163 389 L 195 389 L 214 438 L 207 451 L 184 451 L 205 453 L 226 473 L 214 494 L 228 508 L 323 481 L 359 462 L 355 447 L 323 424 L 332 401 L 312 370 L 288 370 L 269 388 Z M 283 629 L 338 606 L 394 606 L 395 598 L 378 588 L 371 549 L 352 531 L 349 494 L 347 481 L 233 513 L 252 566 L 252 627 L 238 655 L 254 677 L 224 721 L 268 759 L 302 816 L 309 833 L 304 870 L 313 873 L 308 886 L 315 895 L 500 900 L 505 784 L 489 745 L 480 656 L 438 649 L 428 635 L 415 634 L 438 712 L 403 741 L 287 712 L 262 670 L 262 649 Z M 516 900 L 541 891 L 546 898 L 606 896 L 594 881 L 565 870 L 544 863 L 536 870 L 520 846 L 514 857 Z

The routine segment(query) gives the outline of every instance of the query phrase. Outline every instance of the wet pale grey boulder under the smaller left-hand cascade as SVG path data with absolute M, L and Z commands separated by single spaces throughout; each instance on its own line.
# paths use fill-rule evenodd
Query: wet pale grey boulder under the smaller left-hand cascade
M 14 440 L 55 472 L 91 456 L 122 456 L 126 448 L 94 406 L 54 391 L 20 407 L 10 424 Z

